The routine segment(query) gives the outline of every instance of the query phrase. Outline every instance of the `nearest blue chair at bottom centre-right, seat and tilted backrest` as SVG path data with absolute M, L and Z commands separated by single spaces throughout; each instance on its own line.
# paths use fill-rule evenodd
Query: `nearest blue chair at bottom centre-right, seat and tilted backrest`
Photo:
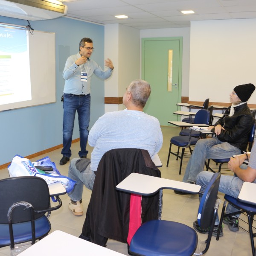
M 203 229 L 210 227 L 202 254 L 209 249 L 212 238 L 219 204 L 216 199 L 220 177 L 220 173 L 215 173 L 212 176 L 198 208 L 198 224 Z M 189 256 L 195 253 L 197 244 L 198 235 L 191 227 L 175 221 L 153 220 L 140 226 L 131 240 L 129 250 L 136 255 Z

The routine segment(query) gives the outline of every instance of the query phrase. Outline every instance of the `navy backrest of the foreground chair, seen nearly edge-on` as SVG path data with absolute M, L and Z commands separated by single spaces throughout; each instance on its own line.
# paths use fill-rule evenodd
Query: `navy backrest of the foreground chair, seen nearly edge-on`
M 198 208 L 198 224 L 202 229 L 207 229 L 212 223 L 220 178 L 220 172 L 216 172 L 212 175 L 212 178 L 201 198 Z

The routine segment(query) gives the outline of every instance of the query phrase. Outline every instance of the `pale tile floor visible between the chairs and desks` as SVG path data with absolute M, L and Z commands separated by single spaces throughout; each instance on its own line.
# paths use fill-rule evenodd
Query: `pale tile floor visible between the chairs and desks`
M 170 156 L 169 167 L 166 167 L 170 138 L 172 136 L 176 136 L 179 133 L 180 129 L 175 127 L 164 126 L 162 127 L 162 131 L 164 138 L 163 147 L 159 152 L 160 159 L 163 163 L 163 167 L 160 168 L 161 175 L 164 178 L 182 180 L 188 159 L 183 160 L 183 168 L 181 175 L 178 175 L 180 160 L 176 161 L 175 156 Z M 72 144 L 72 157 L 78 157 L 79 146 L 79 143 Z M 90 152 L 92 151 L 92 148 L 88 147 L 88 151 L 88 157 L 90 157 Z M 17 154 L 19 154 L 19 152 L 17 152 Z M 45 156 L 49 156 L 51 160 L 56 163 L 56 166 L 62 175 L 67 175 L 69 163 L 67 163 L 64 166 L 59 165 L 59 160 L 62 157 L 61 149 L 52 151 L 50 153 L 44 154 L 40 157 L 37 157 L 36 159 L 31 160 L 35 161 Z M 0 179 L 6 177 L 9 177 L 8 170 L 0 170 Z M 61 200 L 63 202 L 63 206 L 60 209 L 52 212 L 52 215 L 49 217 L 49 220 L 52 224 L 51 232 L 54 230 L 62 230 L 74 236 L 79 236 L 81 233 L 82 225 L 84 223 L 85 212 L 87 209 L 88 202 L 90 200 L 90 194 L 90 190 L 84 187 L 84 193 L 82 198 L 84 215 L 80 217 L 74 216 L 68 210 L 69 197 L 67 195 L 62 195 Z M 178 221 L 192 227 L 192 223 L 197 216 L 197 210 L 199 205 L 198 195 L 176 195 L 172 190 L 167 189 L 164 190 L 163 194 L 164 195 L 162 219 Z M 223 199 L 223 194 L 219 193 L 219 197 Z M 219 212 L 222 209 L 222 204 L 223 201 L 220 205 Z M 243 227 L 247 229 L 246 224 L 243 224 Z M 206 235 L 204 234 L 198 234 L 198 237 L 201 241 L 206 239 Z M 125 255 L 128 255 L 126 244 L 114 240 L 108 240 L 107 247 L 111 250 L 115 250 Z M 81 248 L 81 255 L 85 253 L 86 250 Z M 10 255 L 9 247 L 0 248 L 0 256 L 6 255 Z M 50 252 L 49 255 L 51 255 Z M 209 250 L 206 253 L 206 255 L 251 256 L 252 253 L 250 248 L 249 235 L 242 229 L 240 229 L 238 232 L 231 232 L 228 229 L 227 225 L 224 224 L 224 236 L 221 237 L 219 241 L 216 241 L 214 237 L 212 238 Z

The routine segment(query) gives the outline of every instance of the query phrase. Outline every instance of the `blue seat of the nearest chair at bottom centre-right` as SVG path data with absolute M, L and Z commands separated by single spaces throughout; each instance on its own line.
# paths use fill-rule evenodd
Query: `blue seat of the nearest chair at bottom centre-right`
M 130 250 L 147 256 L 193 255 L 197 243 L 198 235 L 191 227 L 174 221 L 153 220 L 137 230 Z

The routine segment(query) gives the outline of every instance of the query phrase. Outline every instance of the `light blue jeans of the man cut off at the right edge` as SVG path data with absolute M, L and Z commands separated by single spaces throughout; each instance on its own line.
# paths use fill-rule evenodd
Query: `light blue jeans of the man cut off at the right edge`
M 247 167 L 246 165 L 240 166 L 241 168 Z M 201 186 L 200 192 L 204 192 L 207 185 L 209 184 L 210 179 L 212 178 L 212 172 L 200 172 L 196 178 L 196 184 Z M 238 198 L 239 192 L 243 185 L 244 181 L 240 180 L 237 176 L 230 175 L 221 175 L 220 186 L 218 191 L 224 194 Z M 226 213 L 237 212 L 239 208 L 233 207 L 231 204 L 227 204 Z M 236 215 L 239 217 L 239 215 Z M 215 220 L 215 225 L 219 224 L 218 215 Z

